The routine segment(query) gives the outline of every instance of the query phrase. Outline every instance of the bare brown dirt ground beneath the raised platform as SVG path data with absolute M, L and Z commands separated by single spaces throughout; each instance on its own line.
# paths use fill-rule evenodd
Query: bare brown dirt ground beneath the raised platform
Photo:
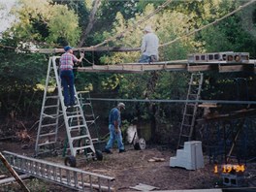
M 22 149 L 20 143 L 2 142 L 0 143 L 0 150 L 9 150 L 32 156 L 34 145 L 30 144 L 26 149 Z M 116 191 L 121 192 L 135 191 L 130 187 L 139 183 L 154 186 L 158 190 L 214 188 L 222 180 L 220 174 L 213 173 L 214 165 L 209 164 L 207 156 L 205 157 L 205 168 L 188 171 L 183 168 L 171 168 L 169 166 L 170 157 L 176 156 L 176 151 L 172 152 L 169 148 L 150 145 L 144 150 L 135 150 L 132 145 L 126 145 L 126 150 L 124 153 L 118 153 L 117 149 L 113 149 L 112 154 L 103 153 L 102 161 L 83 159 L 78 162 L 77 167 L 84 171 L 114 177 L 115 180 L 112 181 L 112 186 Z M 149 159 L 153 157 L 162 158 L 163 161 L 150 162 Z M 62 156 L 44 159 L 64 164 Z M 251 176 L 249 186 L 253 187 L 256 186 L 255 165 L 255 163 L 248 164 L 246 167 L 246 169 L 252 171 L 247 173 L 246 176 Z M 52 183 L 44 183 L 47 185 L 46 191 L 72 191 Z

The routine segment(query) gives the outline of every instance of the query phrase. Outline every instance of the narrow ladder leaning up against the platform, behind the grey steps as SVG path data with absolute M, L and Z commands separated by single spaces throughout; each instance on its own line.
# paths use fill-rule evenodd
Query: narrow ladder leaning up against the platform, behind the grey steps
M 186 100 L 198 101 L 200 99 L 202 84 L 202 73 L 191 74 Z M 182 148 L 184 142 L 188 142 L 191 140 L 197 115 L 197 109 L 198 102 L 185 103 L 177 148 Z

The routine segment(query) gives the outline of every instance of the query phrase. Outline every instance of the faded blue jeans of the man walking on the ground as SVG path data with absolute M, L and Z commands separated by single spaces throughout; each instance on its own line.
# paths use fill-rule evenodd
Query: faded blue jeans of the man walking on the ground
M 110 130 L 110 140 L 109 140 L 108 144 L 105 146 L 105 148 L 106 149 L 111 149 L 113 142 L 116 140 L 119 150 L 120 149 L 123 150 L 124 145 L 122 143 L 121 130 L 119 129 L 119 132 L 116 134 L 115 131 L 114 131 L 114 126 L 112 124 L 109 125 L 109 130 Z

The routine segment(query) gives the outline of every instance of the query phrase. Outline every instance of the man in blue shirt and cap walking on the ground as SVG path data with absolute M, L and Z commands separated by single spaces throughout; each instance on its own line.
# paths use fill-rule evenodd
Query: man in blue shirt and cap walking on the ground
M 122 110 L 125 110 L 125 105 L 124 103 L 119 103 L 109 114 L 110 139 L 104 149 L 107 153 L 112 153 L 112 144 L 115 140 L 117 141 L 119 152 L 125 152 L 124 144 L 122 143 L 122 133 L 120 130 Z

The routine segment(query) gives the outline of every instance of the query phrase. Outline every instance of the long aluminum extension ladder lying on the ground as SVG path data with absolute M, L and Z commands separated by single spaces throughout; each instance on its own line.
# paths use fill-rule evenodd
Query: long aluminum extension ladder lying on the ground
M 36 176 L 79 191 L 114 191 L 114 177 L 84 172 L 48 161 L 3 151 L 10 165 L 18 172 Z

